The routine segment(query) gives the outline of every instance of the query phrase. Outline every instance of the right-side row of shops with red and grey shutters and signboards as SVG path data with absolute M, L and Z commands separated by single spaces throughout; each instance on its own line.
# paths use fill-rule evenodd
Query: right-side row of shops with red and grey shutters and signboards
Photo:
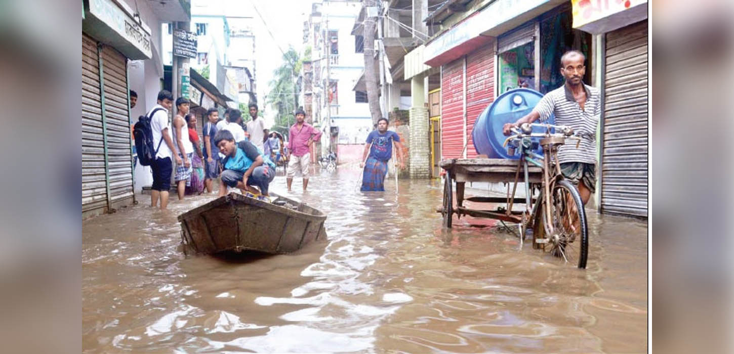
M 482 110 L 509 89 L 561 86 L 560 57 L 579 50 L 603 95 L 595 206 L 647 215 L 647 1 L 449 0 L 425 21 L 435 34 L 406 55 L 405 76 L 440 69 L 440 158 L 476 157 Z

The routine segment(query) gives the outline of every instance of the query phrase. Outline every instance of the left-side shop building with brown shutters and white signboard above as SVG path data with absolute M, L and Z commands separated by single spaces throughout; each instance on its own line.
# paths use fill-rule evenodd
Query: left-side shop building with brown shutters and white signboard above
M 135 202 L 131 124 L 163 79 L 160 24 L 189 21 L 188 1 L 85 1 L 81 33 L 81 215 Z M 137 92 L 130 108 L 129 90 Z

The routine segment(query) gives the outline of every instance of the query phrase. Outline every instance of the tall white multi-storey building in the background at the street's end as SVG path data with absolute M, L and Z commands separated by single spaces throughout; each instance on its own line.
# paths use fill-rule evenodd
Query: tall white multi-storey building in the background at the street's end
M 333 150 L 339 162 L 359 161 L 373 129 L 366 92 L 355 92 L 364 69 L 364 45 L 352 36 L 360 1 L 313 4 L 304 24 L 310 62 L 302 70 L 302 102 L 313 123 L 324 131 L 321 152 Z

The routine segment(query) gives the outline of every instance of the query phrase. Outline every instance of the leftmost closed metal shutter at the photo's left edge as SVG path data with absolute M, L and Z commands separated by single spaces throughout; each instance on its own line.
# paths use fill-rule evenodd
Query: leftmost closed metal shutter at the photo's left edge
M 97 42 L 81 36 L 81 211 L 106 207 Z

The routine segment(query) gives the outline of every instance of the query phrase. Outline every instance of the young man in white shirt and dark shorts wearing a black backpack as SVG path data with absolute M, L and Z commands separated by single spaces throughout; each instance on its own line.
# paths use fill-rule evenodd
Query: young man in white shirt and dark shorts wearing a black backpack
M 173 140 L 168 124 L 168 110 L 173 106 L 173 96 L 167 90 L 158 93 L 158 104 L 148 114 L 140 116 L 133 128 L 138 160 L 142 166 L 153 170 L 153 187 L 150 188 L 150 206 L 161 201 L 161 210 L 168 206 L 168 191 L 171 188 Z M 163 144 L 165 142 L 165 144 Z M 175 156 L 176 163 L 182 163 Z

